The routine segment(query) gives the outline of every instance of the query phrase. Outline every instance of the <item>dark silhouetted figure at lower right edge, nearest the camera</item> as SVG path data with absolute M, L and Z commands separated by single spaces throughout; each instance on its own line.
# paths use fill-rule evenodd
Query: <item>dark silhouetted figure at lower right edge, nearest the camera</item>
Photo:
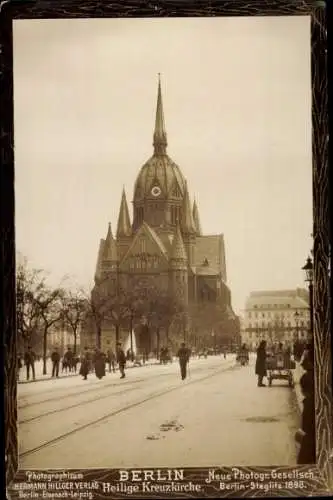
M 316 461 L 314 373 L 312 371 L 303 373 L 299 384 L 304 399 L 301 428 L 295 434 L 295 439 L 300 444 L 297 464 L 314 464 Z

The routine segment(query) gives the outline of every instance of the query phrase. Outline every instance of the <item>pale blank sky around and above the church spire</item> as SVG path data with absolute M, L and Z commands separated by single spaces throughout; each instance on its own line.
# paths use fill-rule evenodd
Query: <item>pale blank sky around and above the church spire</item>
M 16 248 L 93 285 L 130 205 L 161 85 L 168 154 L 204 234 L 223 233 L 232 305 L 304 286 L 312 247 L 310 17 L 14 21 Z

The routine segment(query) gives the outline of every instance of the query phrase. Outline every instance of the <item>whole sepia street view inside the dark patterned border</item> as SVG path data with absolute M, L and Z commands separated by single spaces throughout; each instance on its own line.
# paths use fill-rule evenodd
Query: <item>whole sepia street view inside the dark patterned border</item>
M 314 464 L 310 16 L 18 19 L 13 82 L 19 469 Z

